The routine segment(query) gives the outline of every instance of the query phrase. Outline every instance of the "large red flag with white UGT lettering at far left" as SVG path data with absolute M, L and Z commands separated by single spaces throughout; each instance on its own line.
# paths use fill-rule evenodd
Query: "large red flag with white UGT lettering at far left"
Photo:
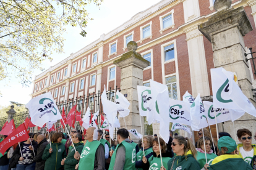
M 2 140 L 2 142 L 0 143 L 0 153 L 4 155 L 4 152 L 6 152 L 6 150 L 10 148 L 12 145 L 18 142 L 28 140 L 28 138 L 29 136 L 27 129 L 25 125 L 22 123 L 19 127 L 17 127 L 17 129 L 15 129 L 11 134 L 9 134 L 9 136 L 6 137 L 6 139 Z

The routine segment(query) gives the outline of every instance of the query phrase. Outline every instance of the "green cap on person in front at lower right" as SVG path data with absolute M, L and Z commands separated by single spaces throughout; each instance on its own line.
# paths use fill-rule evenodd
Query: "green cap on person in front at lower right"
M 223 136 L 218 140 L 218 148 L 219 150 L 221 150 L 221 147 L 226 147 L 228 148 L 228 152 L 226 153 L 231 153 L 234 150 L 236 150 L 236 141 L 234 141 L 234 139 L 232 139 L 229 136 Z

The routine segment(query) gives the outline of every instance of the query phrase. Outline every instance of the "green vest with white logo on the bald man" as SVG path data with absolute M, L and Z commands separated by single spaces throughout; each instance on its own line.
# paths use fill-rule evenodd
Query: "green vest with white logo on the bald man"
M 79 167 L 81 169 L 85 167 L 87 170 L 94 169 L 95 154 L 100 144 L 101 143 L 98 140 L 86 142 L 80 155 Z

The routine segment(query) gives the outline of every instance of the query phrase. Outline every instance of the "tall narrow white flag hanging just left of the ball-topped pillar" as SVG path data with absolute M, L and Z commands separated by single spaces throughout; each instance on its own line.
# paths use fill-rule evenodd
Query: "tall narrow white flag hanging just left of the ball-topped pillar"
M 117 115 L 117 110 L 119 108 L 119 105 L 108 100 L 106 96 L 105 85 L 104 85 L 104 91 L 101 94 L 101 102 L 103 105 L 103 111 L 106 114 L 106 118 L 108 118 L 108 121 L 109 121 L 109 136 L 112 139 L 114 139 L 114 118 Z

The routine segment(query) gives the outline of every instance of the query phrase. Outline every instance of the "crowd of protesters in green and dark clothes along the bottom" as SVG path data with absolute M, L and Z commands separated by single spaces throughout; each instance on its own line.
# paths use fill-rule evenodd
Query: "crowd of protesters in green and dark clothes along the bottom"
M 256 169 L 256 145 L 249 129 L 237 131 L 238 145 L 226 132 L 220 132 L 216 142 L 202 129 L 195 145 L 191 139 L 169 132 L 167 144 L 156 135 L 145 135 L 136 144 L 127 129 L 119 129 L 116 140 L 95 127 L 89 127 L 85 134 L 71 129 L 70 136 L 60 129 L 49 134 L 29 133 L 29 139 L 0 156 L 0 170 Z M 1 136 L 0 142 L 6 137 Z

